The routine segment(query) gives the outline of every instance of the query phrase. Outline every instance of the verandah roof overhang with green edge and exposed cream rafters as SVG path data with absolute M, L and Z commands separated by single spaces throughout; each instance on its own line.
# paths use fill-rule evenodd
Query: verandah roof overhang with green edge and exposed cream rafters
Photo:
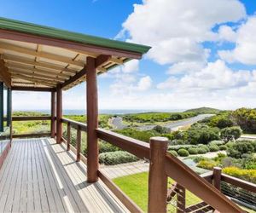
M 98 73 L 141 59 L 150 49 L 0 18 L 0 80 L 11 87 L 69 89 L 86 79 L 86 59 Z

